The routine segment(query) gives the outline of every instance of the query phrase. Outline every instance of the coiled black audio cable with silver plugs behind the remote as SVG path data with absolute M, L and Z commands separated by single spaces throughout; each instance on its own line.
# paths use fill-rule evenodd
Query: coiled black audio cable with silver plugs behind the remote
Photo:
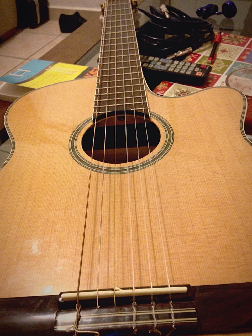
M 214 38 L 212 25 L 166 5 L 170 18 L 150 6 L 150 13 L 138 9 L 151 20 L 136 29 L 140 54 L 167 57 L 178 50 L 199 48 Z

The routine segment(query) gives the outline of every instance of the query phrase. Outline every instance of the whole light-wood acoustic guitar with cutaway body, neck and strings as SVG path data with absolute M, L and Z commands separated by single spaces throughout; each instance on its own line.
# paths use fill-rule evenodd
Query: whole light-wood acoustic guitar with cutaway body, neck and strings
M 98 76 L 5 116 L 1 335 L 252 331 L 246 98 L 145 86 L 129 0 L 107 0 Z

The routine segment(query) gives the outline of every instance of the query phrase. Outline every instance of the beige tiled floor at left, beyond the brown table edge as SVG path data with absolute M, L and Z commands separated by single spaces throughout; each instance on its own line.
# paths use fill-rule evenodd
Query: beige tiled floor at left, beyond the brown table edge
M 37 59 L 64 40 L 70 33 L 61 33 L 58 21 L 50 20 L 34 29 L 22 29 L 0 44 L 0 76 L 31 59 Z M 0 81 L 0 84 L 2 82 Z M 10 139 L 0 146 L 0 166 L 11 150 Z

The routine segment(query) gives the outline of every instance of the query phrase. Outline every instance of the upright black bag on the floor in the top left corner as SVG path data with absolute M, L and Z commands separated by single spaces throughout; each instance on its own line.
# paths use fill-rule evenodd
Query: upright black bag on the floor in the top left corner
M 47 0 L 16 0 L 17 27 L 35 28 L 49 18 Z

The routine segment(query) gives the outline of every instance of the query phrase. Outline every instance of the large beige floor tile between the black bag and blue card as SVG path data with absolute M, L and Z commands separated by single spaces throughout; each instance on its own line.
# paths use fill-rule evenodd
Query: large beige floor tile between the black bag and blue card
M 0 45 L 0 55 L 29 58 L 53 39 L 55 35 L 23 31 Z

